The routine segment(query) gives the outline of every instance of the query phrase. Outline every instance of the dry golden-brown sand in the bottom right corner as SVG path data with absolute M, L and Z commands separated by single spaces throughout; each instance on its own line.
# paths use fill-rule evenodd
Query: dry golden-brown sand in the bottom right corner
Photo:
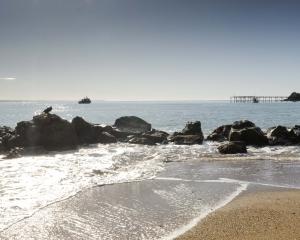
M 246 193 L 177 240 L 299 240 L 300 191 Z

